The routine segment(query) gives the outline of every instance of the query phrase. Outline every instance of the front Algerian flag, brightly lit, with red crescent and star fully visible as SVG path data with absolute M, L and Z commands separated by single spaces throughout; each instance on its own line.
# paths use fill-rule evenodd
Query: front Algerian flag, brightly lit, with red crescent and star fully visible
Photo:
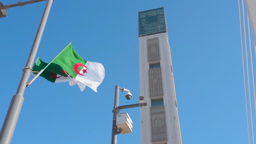
M 85 85 L 95 92 L 97 92 L 97 87 L 100 86 L 105 76 L 105 70 L 101 63 L 85 61 L 74 50 L 71 43 L 53 61 L 46 65 L 45 69 L 64 77 L 72 77 L 75 81 L 71 82 L 67 80 L 69 84 L 74 85 L 77 81 L 79 87 Z

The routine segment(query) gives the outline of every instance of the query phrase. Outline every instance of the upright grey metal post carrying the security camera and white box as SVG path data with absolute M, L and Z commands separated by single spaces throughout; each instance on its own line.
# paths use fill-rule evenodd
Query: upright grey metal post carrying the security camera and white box
M 117 144 L 117 114 L 119 113 L 118 105 L 119 105 L 119 86 L 115 86 L 111 144 Z

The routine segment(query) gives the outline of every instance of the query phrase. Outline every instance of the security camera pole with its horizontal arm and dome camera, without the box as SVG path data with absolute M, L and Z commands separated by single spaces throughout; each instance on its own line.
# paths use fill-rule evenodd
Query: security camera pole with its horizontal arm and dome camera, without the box
M 129 100 L 132 96 L 128 89 L 120 88 L 119 86 L 115 86 L 115 95 L 114 95 L 114 109 L 113 109 L 113 122 L 112 122 L 112 137 L 111 137 L 111 144 L 117 144 L 117 135 L 120 134 L 121 131 L 118 131 L 117 127 L 117 114 L 122 109 L 129 109 L 132 107 L 142 107 L 146 106 L 147 103 L 138 103 L 138 104 L 132 104 L 132 105 L 123 105 L 119 106 L 119 90 L 122 90 L 123 92 L 126 91 L 127 94 L 126 97 L 127 100 Z M 143 97 L 144 98 L 144 97 Z

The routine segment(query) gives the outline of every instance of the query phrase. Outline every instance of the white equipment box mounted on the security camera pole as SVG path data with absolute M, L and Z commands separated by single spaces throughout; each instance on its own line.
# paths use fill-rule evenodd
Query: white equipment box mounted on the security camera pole
M 122 134 L 132 133 L 132 120 L 128 113 L 117 114 L 117 127 Z

